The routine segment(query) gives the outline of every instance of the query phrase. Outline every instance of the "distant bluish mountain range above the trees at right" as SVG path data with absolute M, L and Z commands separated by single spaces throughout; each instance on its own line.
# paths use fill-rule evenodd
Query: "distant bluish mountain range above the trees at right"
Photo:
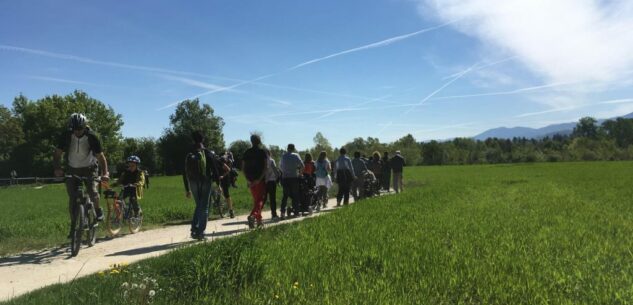
M 633 112 L 627 115 L 620 116 L 625 119 L 633 119 Z M 614 119 L 614 118 L 612 118 Z M 605 120 L 598 120 L 598 125 L 602 124 Z M 499 127 L 494 129 L 488 129 L 473 137 L 475 140 L 485 140 L 487 138 L 499 138 L 499 139 L 512 139 L 512 138 L 528 138 L 528 139 L 540 139 L 547 136 L 553 136 L 555 134 L 569 135 L 574 131 L 577 122 L 562 123 L 548 125 L 543 128 L 529 128 L 529 127 Z

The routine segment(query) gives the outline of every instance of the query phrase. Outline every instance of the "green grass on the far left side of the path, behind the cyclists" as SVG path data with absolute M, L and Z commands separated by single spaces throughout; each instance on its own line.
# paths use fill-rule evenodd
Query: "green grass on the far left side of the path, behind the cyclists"
M 32 185 L 0 188 L 0 197 L 0 256 L 67 243 L 70 220 L 63 184 L 39 189 Z M 252 199 L 246 182 L 238 181 L 238 188 L 231 188 L 231 197 L 237 213 L 250 211 Z M 186 223 L 193 215 L 194 202 L 185 198 L 181 176 L 152 177 L 150 189 L 145 190 L 140 202 L 145 215 L 144 229 Z M 102 207 L 105 212 L 106 206 Z M 105 236 L 105 230 L 99 232 Z

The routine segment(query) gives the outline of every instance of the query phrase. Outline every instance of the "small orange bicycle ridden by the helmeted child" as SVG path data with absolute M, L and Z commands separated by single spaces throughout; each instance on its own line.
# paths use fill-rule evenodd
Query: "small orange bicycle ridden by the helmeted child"
M 112 237 L 119 234 L 125 222 L 127 222 L 131 234 L 140 231 L 143 224 L 143 210 L 141 210 L 140 205 L 138 215 L 134 215 L 132 204 L 126 203 L 125 199 L 123 199 L 123 193 L 128 188 L 133 188 L 133 191 L 136 192 L 136 185 L 124 186 L 119 194 L 111 188 L 103 192 L 108 207 L 106 229 Z

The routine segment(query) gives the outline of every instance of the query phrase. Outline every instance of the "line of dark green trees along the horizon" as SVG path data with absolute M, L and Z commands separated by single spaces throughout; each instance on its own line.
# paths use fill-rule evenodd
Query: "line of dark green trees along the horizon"
M 50 176 L 52 152 L 71 113 L 82 112 L 89 126 L 100 137 L 112 166 L 119 172 L 125 157 L 137 155 L 143 168 L 151 174 L 182 173 L 183 158 L 190 146 L 193 130 L 206 133 L 205 146 L 216 152 L 231 151 L 236 160 L 250 147 L 247 140 L 224 142 L 224 121 L 211 106 L 198 99 L 179 103 L 169 117 L 169 127 L 158 138 L 125 138 L 121 134 L 123 116 L 82 91 L 60 96 L 29 100 L 17 96 L 9 109 L 0 105 L 0 177 L 11 170 L 20 176 Z M 331 159 L 337 155 L 320 132 L 314 146 L 300 151 L 318 155 L 326 151 Z M 382 143 L 378 138 L 354 138 L 345 143 L 349 152 L 360 151 L 371 156 L 375 151 L 401 151 L 407 165 L 497 164 L 518 162 L 558 162 L 595 160 L 633 160 L 633 119 L 618 118 L 598 125 L 591 117 L 578 121 L 570 135 L 553 135 L 541 139 L 498 139 L 485 141 L 455 138 L 449 141 L 418 142 L 408 134 L 394 142 Z M 268 146 L 273 158 L 279 159 L 284 148 Z

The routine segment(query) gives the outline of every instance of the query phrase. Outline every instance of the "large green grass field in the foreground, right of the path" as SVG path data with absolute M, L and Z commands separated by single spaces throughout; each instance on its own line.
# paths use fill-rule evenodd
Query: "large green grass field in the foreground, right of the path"
M 9 304 L 633 303 L 632 162 L 406 170 L 403 194 Z

